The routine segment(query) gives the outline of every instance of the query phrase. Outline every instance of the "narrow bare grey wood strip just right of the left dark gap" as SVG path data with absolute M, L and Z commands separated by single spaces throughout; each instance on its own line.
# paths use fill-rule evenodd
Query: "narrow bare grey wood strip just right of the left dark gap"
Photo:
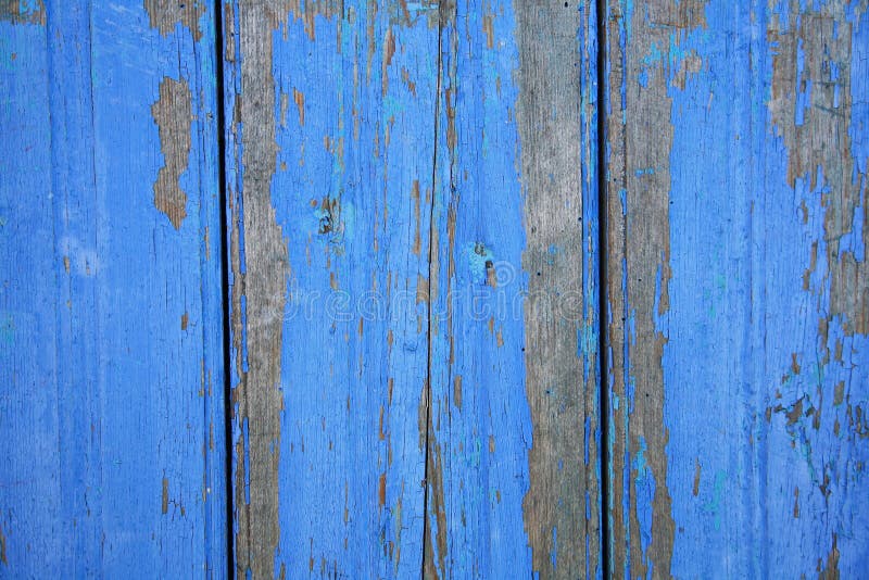
M 243 54 L 232 78 L 241 94 L 231 127 L 228 165 L 231 215 L 230 316 L 235 356 L 234 455 L 236 573 L 274 575 L 280 535 L 278 465 L 284 399 L 280 389 L 287 244 L 276 222 L 272 180 L 277 169 L 272 35 L 289 14 L 288 2 L 239 2 L 231 30 Z

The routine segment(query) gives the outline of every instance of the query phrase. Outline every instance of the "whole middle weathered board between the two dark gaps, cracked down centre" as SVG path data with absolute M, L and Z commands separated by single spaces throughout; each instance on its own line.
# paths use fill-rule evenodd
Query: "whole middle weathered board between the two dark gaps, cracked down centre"
M 600 573 L 593 8 L 224 23 L 236 573 Z

